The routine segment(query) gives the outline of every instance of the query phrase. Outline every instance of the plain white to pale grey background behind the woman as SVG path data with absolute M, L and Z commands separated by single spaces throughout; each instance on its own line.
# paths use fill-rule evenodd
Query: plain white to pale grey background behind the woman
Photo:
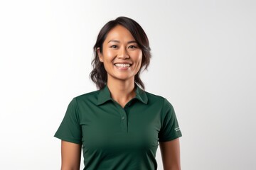
M 149 37 L 142 79 L 176 110 L 182 168 L 256 169 L 254 0 L 1 1 L 0 169 L 60 169 L 53 135 L 72 98 L 96 90 L 92 47 L 117 16 Z

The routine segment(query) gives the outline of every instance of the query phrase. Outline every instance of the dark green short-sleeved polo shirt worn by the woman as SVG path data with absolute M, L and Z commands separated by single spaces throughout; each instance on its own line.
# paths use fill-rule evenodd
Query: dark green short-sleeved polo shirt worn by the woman
M 138 86 L 124 108 L 104 89 L 73 98 L 60 127 L 60 140 L 82 145 L 84 169 L 156 169 L 159 142 L 181 137 L 171 103 Z

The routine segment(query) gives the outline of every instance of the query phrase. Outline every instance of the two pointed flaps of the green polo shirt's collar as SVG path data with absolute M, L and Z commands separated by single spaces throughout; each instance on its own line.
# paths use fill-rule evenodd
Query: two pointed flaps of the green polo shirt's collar
M 146 92 L 144 90 L 140 89 L 139 86 L 137 86 L 137 84 L 135 84 L 135 88 L 136 88 L 135 98 L 137 98 L 142 103 L 147 104 L 148 98 L 146 96 Z M 110 95 L 110 89 L 108 89 L 108 87 L 106 85 L 103 89 L 100 90 L 100 93 L 98 94 L 97 105 L 101 105 L 107 101 L 112 101 L 112 98 Z

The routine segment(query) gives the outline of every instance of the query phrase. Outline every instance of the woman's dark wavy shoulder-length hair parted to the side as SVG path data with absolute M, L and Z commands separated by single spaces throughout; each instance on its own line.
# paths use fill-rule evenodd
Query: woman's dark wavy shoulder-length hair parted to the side
M 142 80 L 140 79 L 139 74 L 142 69 L 146 69 L 149 66 L 151 58 L 149 39 L 147 38 L 146 33 L 144 32 L 142 27 L 139 26 L 139 23 L 137 23 L 131 18 L 127 18 L 124 16 L 120 16 L 115 20 L 109 21 L 100 30 L 100 33 L 97 36 L 95 46 L 93 47 L 93 69 L 92 72 L 90 72 L 90 78 L 93 82 L 95 82 L 98 89 L 103 89 L 107 84 L 107 72 L 105 70 L 104 64 L 100 62 L 100 58 L 97 54 L 97 48 L 100 48 L 100 52 L 102 52 L 102 45 L 105 39 L 107 38 L 107 34 L 110 32 L 110 30 L 112 30 L 112 28 L 118 25 L 124 26 L 124 28 L 127 28 L 127 30 L 129 30 L 129 32 L 132 34 L 137 44 L 139 45 L 139 48 L 142 50 L 142 65 L 141 68 L 139 69 L 139 72 L 135 75 L 134 81 L 136 84 L 141 86 L 142 89 L 145 89 L 145 86 Z

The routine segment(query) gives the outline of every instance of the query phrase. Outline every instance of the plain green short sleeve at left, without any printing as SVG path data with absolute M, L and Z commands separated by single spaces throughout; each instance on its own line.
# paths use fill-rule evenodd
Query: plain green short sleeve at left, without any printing
M 75 98 L 69 103 L 63 121 L 54 136 L 67 142 L 82 144 L 78 104 Z

